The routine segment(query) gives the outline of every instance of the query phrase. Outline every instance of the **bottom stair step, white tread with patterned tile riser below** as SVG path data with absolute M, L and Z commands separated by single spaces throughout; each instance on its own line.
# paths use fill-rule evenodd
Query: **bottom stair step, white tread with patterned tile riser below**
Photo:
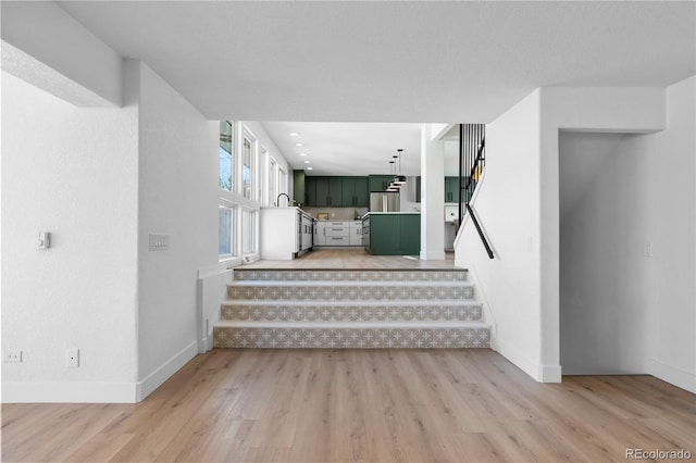
M 393 323 L 253 323 L 220 322 L 215 348 L 489 348 L 490 329 L 482 322 Z

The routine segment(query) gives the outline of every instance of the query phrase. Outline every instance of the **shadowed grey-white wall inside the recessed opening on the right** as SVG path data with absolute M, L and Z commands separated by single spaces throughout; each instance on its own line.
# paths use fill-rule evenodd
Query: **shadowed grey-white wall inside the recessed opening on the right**
M 648 373 L 654 138 L 561 133 L 563 374 Z

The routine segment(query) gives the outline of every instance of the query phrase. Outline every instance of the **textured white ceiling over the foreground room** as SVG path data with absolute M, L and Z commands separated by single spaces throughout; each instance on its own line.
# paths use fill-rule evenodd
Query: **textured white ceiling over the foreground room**
M 664 87 L 696 73 L 694 2 L 59 4 L 211 120 L 487 123 L 540 86 Z M 365 152 L 355 132 L 312 142 L 338 153 L 344 137 Z

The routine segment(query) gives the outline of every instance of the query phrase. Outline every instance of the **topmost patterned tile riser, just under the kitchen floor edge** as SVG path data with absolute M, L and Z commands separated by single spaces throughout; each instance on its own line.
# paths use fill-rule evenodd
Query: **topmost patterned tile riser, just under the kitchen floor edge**
M 236 281 L 465 281 L 465 271 L 235 271 Z

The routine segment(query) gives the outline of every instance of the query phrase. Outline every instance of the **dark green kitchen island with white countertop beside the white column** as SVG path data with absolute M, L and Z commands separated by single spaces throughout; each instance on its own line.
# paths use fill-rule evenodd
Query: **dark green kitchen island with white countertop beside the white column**
M 362 216 L 362 245 L 374 255 L 419 255 L 420 212 L 368 212 Z

